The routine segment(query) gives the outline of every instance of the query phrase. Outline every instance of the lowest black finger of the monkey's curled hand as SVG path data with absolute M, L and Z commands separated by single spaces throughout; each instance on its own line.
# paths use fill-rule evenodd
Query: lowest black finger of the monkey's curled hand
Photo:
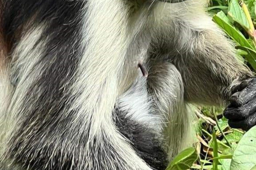
M 256 125 L 256 114 L 242 121 L 229 120 L 228 124 L 231 128 L 241 128 L 247 131 Z

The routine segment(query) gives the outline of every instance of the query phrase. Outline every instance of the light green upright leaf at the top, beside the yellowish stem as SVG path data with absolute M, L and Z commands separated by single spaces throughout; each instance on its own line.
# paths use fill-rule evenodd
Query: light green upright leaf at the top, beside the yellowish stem
M 250 24 L 246 18 L 244 11 L 238 4 L 237 0 L 231 0 L 228 7 L 228 16 L 230 16 L 233 21 L 239 23 L 246 30 L 250 29 Z

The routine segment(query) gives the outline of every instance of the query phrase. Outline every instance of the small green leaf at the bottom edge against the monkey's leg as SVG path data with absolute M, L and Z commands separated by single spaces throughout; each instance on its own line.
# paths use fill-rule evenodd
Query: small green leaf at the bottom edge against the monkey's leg
M 166 170 L 187 170 L 191 168 L 197 158 L 198 155 L 196 150 L 193 147 L 187 148 L 173 159 Z

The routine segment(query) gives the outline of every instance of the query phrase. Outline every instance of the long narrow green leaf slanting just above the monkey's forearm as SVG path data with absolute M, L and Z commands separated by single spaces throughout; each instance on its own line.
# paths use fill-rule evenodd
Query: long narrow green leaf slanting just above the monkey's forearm
M 237 42 L 237 44 L 253 49 L 252 45 L 247 41 L 242 33 L 229 24 L 227 16 L 223 14 L 224 13 L 222 11 L 218 12 L 218 14 L 213 16 L 213 21 L 217 23 L 231 39 Z

